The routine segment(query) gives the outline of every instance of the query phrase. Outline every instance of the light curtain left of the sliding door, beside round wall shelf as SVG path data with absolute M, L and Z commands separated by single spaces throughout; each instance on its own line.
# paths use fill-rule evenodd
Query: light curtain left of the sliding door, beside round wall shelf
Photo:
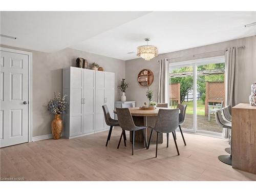
M 158 80 L 158 103 L 168 103 L 168 61 L 167 59 L 159 60 L 159 80 Z

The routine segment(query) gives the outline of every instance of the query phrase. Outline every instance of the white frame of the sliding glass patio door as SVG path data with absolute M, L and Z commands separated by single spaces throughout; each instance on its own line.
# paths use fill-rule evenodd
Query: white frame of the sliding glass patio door
M 206 57 L 206 58 L 201 58 L 201 59 L 193 59 L 193 60 L 186 60 L 186 61 L 180 61 L 180 62 L 169 62 L 169 71 L 171 70 L 172 67 L 186 67 L 186 66 L 191 66 L 193 67 L 193 111 L 196 113 L 193 113 L 193 127 L 192 130 L 190 129 L 183 129 L 185 132 L 192 132 L 192 133 L 199 133 L 203 135 L 208 135 L 208 136 L 214 136 L 214 137 L 223 137 L 224 133 L 215 133 L 215 132 L 210 132 L 210 131 L 204 131 L 204 130 L 198 130 L 197 129 L 197 67 L 200 65 L 207 65 L 210 62 L 225 62 L 225 56 L 216 56 L 216 57 Z M 225 63 L 225 75 L 226 75 L 226 63 Z M 169 82 L 169 79 L 168 79 Z M 226 92 L 226 82 L 227 78 L 225 78 L 225 98 L 227 97 L 227 92 Z

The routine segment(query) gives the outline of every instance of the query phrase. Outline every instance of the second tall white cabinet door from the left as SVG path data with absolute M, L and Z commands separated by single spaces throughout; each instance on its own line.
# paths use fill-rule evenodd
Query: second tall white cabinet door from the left
M 83 133 L 94 132 L 94 80 L 95 71 L 83 69 Z

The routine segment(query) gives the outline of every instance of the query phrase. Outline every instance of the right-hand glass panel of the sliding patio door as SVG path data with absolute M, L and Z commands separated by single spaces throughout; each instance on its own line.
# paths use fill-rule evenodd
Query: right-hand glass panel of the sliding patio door
M 215 112 L 225 104 L 225 63 L 197 65 L 197 131 L 222 133 Z

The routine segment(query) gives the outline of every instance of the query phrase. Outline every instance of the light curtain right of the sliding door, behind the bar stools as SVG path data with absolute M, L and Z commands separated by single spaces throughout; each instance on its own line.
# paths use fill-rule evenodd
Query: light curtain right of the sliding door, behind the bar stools
M 225 54 L 226 63 L 226 105 L 234 106 L 237 103 L 237 81 L 238 81 L 238 48 L 228 48 Z M 228 129 L 223 130 L 224 138 L 230 138 Z

